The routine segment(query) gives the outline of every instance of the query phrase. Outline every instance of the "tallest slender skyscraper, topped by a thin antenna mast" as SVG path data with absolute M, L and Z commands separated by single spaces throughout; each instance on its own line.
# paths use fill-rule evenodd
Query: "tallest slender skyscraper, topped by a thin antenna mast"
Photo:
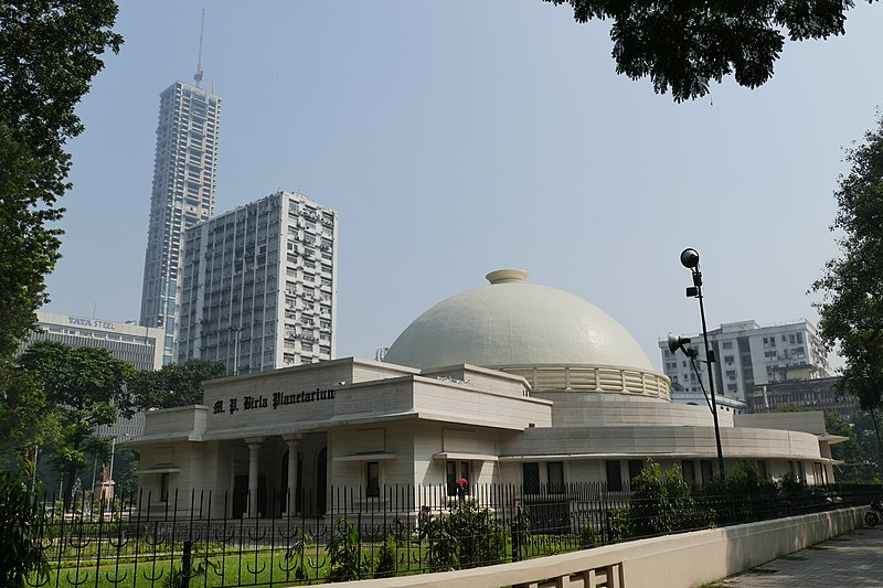
M 140 323 L 163 330 L 164 363 L 173 360 L 184 231 L 214 213 L 220 118 L 213 92 L 175 82 L 160 94 Z

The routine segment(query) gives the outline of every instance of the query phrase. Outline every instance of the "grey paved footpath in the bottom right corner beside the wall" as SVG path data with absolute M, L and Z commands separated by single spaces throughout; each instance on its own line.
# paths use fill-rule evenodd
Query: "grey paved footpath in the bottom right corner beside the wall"
M 709 586 L 720 588 L 883 587 L 883 527 L 857 528 Z

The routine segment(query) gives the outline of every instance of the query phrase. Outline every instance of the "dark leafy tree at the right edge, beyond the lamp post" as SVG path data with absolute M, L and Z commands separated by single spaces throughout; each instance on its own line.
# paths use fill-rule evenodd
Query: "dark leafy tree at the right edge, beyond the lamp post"
M 881 406 L 883 391 L 883 118 L 847 151 L 850 170 L 834 191 L 841 257 L 812 285 L 822 292 L 819 334 L 839 345 L 845 365 L 836 385 L 859 397 L 862 409 Z

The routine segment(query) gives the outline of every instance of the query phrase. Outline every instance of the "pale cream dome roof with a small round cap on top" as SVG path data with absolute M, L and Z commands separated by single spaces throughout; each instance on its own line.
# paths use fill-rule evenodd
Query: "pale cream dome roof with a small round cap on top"
M 384 361 L 422 370 L 469 363 L 652 372 L 647 354 L 614 318 L 572 293 L 525 284 L 526 277 L 520 269 L 488 274 L 489 286 L 453 296 L 421 314 Z

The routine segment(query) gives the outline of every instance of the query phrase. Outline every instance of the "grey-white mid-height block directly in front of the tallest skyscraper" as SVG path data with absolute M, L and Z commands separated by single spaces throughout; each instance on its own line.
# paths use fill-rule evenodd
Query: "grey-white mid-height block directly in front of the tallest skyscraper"
M 187 232 L 178 361 L 231 374 L 334 356 L 338 214 L 278 192 Z

